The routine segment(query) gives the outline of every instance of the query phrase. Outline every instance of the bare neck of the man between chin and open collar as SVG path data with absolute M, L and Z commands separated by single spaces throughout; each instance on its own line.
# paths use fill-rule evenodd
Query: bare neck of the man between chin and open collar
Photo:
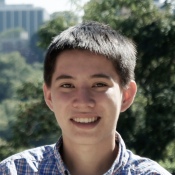
M 115 138 L 103 143 L 83 145 L 63 137 L 62 157 L 72 175 L 101 175 L 110 169 L 117 157 Z

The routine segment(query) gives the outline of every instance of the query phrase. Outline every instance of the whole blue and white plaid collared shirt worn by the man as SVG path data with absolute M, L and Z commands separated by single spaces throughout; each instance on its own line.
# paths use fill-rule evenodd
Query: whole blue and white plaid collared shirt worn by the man
M 104 175 L 170 175 L 156 162 L 134 155 L 127 150 L 118 133 L 119 153 Z M 62 137 L 56 144 L 42 146 L 13 155 L 0 163 L 0 175 L 70 175 L 58 150 Z

